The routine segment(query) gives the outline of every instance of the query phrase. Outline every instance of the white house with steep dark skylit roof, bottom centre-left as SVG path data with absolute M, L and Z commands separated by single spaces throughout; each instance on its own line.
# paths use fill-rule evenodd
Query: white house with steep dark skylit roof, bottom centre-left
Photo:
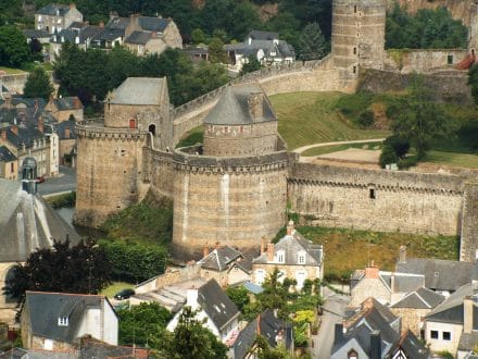
M 185 306 L 198 311 L 196 319 L 203 321 L 203 326 L 218 341 L 227 343 L 238 334 L 240 312 L 215 280 L 207 281 L 198 289 L 188 289 Z M 177 326 L 180 313 L 178 311 L 167 324 L 169 332 Z

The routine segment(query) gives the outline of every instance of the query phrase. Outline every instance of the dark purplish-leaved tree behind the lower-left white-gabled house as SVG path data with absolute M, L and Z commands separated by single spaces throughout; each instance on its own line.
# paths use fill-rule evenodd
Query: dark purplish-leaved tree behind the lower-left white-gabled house
M 22 304 L 26 290 L 97 294 L 110 283 L 111 265 L 103 249 L 80 242 L 54 242 L 38 249 L 25 264 L 16 264 L 4 293 Z

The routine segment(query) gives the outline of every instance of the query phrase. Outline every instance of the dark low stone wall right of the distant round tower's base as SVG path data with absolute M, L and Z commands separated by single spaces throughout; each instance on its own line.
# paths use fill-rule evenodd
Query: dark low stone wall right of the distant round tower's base
M 357 90 L 375 94 L 403 91 L 415 75 L 400 74 L 392 71 L 362 69 Z M 442 71 L 422 75 L 427 88 L 431 89 L 437 101 L 471 104 L 471 88 L 466 71 Z

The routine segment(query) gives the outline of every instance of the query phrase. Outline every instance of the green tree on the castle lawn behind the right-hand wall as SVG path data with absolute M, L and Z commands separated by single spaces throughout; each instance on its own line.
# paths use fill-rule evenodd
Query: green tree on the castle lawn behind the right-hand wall
M 443 108 L 433 101 L 423 77 L 415 76 L 408 94 L 401 100 L 391 127 L 395 135 L 408 139 L 417 158 L 423 159 L 433 137 L 451 136 L 457 125 L 455 119 L 448 116 Z

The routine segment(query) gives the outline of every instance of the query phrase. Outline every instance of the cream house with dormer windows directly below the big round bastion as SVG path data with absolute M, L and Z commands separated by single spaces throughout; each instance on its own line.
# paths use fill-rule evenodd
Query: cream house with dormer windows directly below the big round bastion
M 293 278 L 300 290 L 305 280 L 324 278 L 324 250 L 294 230 L 293 222 L 287 225 L 287 234 L 277 244 L 267 244 L 267 251 L 261 248 L 261 256 L 252 261 L 252 282 L 263 284 L 275 269 L 279 281 Z

